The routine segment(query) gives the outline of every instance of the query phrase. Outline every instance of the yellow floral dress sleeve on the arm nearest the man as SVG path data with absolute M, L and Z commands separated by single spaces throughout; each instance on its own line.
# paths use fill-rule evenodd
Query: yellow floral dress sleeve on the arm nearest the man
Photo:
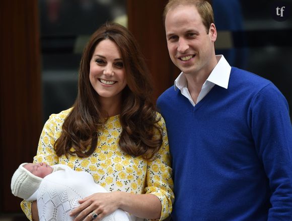
M 165 122 L 162 117 L 159 125 L 163 129 L 163 143 L 155 160 L 148 162 L 147 187 L 145 187 L 144 191 L 145 193 L 155 194 L 160 199 L 162 209 L 159 220 L 163 220 L 172 211 L 174 193 L 168 137 Z

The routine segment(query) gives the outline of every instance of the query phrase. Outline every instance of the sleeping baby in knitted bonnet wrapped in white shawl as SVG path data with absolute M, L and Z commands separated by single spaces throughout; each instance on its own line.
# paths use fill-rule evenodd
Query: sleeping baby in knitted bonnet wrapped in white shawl
M 23 163 L 13 174 L 11 190 L 27 201 L 37 200 L 39 219 L 73 220 L 69 213 L 80 204 L 79 199 L 96 192 L 107 192 L 94 182 L 90 173 L 75 171 L 62 164 Z M 121 209 L 102 221 L 129 221 Z

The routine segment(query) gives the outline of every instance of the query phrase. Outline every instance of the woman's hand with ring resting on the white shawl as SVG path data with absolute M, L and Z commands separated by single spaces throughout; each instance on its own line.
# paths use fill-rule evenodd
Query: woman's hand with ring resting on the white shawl
M 77 215 L 75 221 L 88 221 L 92 220 L 93 214 L 96 213 L 97 220 L 100 220 L 119 208 L 119 195 L 120 192 L 94 193 L 79 200 L 81 205 L 72 210 L 70 216 Z

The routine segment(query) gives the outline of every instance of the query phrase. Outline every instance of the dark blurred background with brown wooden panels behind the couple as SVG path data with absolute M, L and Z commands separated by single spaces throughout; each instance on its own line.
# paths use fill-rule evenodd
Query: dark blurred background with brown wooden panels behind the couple
M 292 108 L 291 1 L 276 21 L 277 1 L 210 1 L 218 32 L 216 54 L 232 66 L 271 80 Z M 132 31 L 147 59 L 155 101 L 179 70 L 168 56 L 162 23 L 167 0 L 4 0 L 0 3 L 0 220 L 26 220 L 10 181 L 31 162 L 50 114 L 69 108 L 77 95 L 78 69 L 89 36 L 104 22 Z M 288 16 L 289 13 L 289 16 Z M 290 111 L 290 116 L 292 112 Z

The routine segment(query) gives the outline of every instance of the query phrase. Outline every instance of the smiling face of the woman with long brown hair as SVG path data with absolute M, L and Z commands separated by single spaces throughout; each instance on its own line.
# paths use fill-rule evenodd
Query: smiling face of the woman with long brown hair
M 96 46 L 90 61 L 89 79 L 101 102 L 120 101 L 127 81 L 116 43 L 105 39 Z

